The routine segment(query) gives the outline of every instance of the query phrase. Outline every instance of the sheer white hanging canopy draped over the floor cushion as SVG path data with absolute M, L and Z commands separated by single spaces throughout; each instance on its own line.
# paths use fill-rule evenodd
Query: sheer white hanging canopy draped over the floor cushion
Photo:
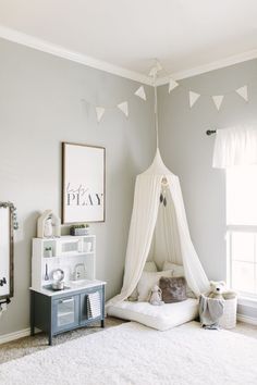
M 166 206 L 160 204 L 161 192 Z M 159 269 L 163 261 L 183 264 L 187 285 L 196 296 L 209 289 L 191 240 L 180 181 L 166 167 L 158 149 L 150 167 L 136 178 L 123 287 L 107 307 L 130 297 L 147 259 L 155 260 Z

